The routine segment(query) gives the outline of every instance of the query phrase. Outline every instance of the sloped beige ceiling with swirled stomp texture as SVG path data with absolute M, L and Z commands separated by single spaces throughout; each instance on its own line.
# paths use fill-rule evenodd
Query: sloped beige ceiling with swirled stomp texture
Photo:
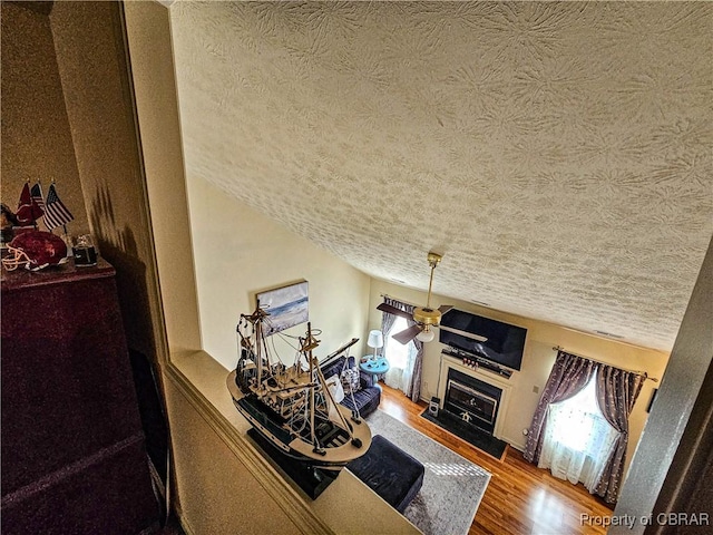
M 713 6 L 170 7 L 186 166 L 355 268 L 670 350 L 713 234 Z

